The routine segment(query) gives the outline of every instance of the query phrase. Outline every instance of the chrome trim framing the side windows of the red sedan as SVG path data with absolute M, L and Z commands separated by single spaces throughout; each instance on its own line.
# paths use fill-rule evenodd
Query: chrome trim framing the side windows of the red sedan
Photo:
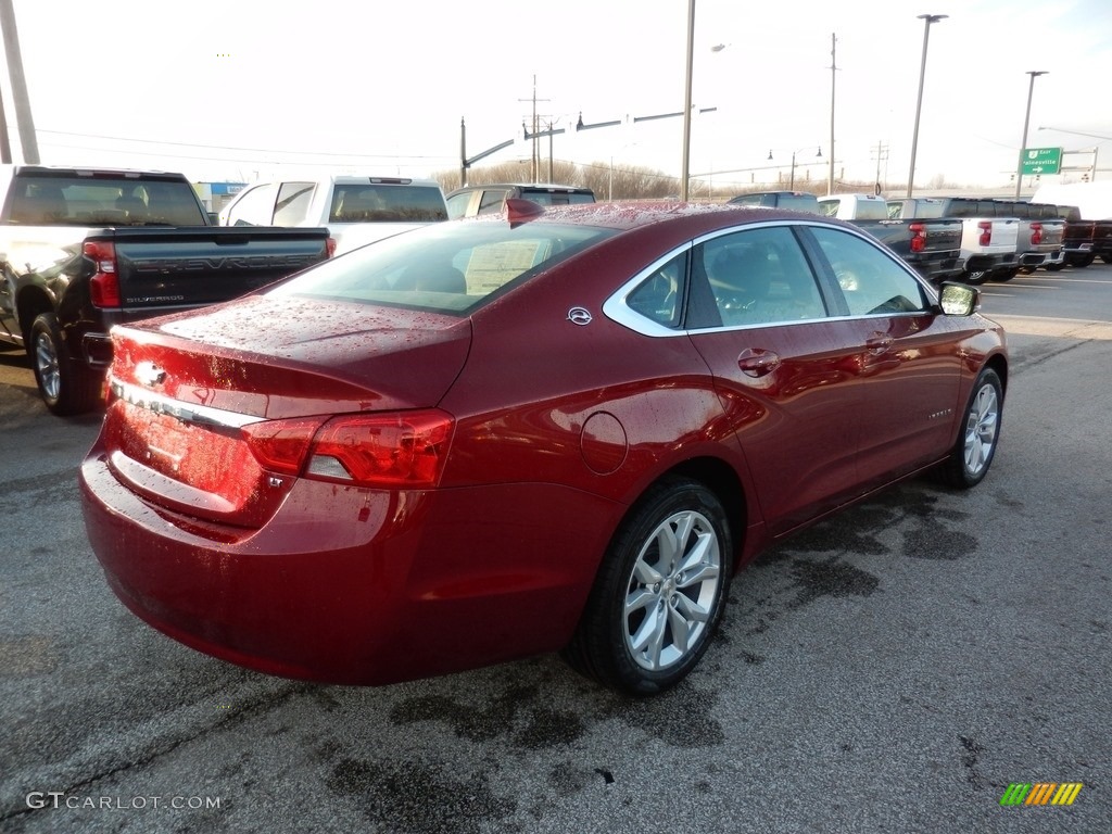
M 693 240 L 687 241 L 683 246 L 678 246 L 671 250 L 666 255 L 657 258 L 647 267 L 637 272 L 633 278 L 623 284 L 617 291 L 610 295 L 603 302 L 603 315 L 615 324 L 622 325 L 623 327 L 638 332 L 642 336 L 648 336 L 651 338 L 668 338 L 675 336 L 688 336 L 694 334 L 707 334 L 707 332 L 727 332 L 733 330 L 755 330 L 766 327 L 785 327 L 787 325 L 806 325 L 815 324 L 818 321 L 851 321 L 860 319 L 871 319 L 871 318 L 893 318 L 895 316 L 931 316 L 934 311 L 931 307 L 922 310 L 907 310 L 906 312 L 876 312 L 876 314 L 862 314 L 858 316 L 823 316 L 821 318 L 806 318 L 806 319 L 790 319 L 784 321 L 762 321 L 752 325 L 723 325 L 721 327 L 701 327 L 701 328 L 672 328 L 665 327 L 664 325 L 653 321 L 649 318 L 635 311 L 632 307 L 626 304 L 626 299 L 629 294 L 633 292 L 641 284 L 646 280 L 653 272 L 663 267 L 673 258 L 677 258 L 684 252 L 688 252 L 696 246 L 702 246 L 708 240 L 714 240 L 718 237 L 724 237 L 726 235 L 735 235 L 741 231 L 748 231 L 751 229 L 763 229 L 786 226 L 788 228 L 796 228 L 800 226 L 805 227 L 818 227 L 823 229 L 835 229 L 843 231 L 847 235 L 854 235 L 862 240 L 872 244 L 881 252 L 883 252 L 893 262 L 894 266 L 903 269 L 907 275 L 910 275 L 919 286 L 925 290 L 924 297 L 929 305 L 937 306 L 939 304 L 939 290 L 931 285 L 923 276 L 916 272 L 909 264 L 906 264 L 900 256 L 895 255 L 891 249 L 888 249 L 883 244 L 878 242 L 875 238 L 861 229 L 853 226 L 845 226 L 842 224 L 827 224 L 827 222 L 814 222 L 812 220 L 768 220 L 765 222 L 753 222 L 745 224 L 743 226 L 732 226 L 728 229 L 716 229 L 715 231 L 702 235 Z

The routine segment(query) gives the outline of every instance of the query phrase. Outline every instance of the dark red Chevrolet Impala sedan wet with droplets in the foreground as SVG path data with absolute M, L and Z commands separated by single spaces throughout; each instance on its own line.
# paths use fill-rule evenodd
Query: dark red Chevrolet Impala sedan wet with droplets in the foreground
M 762 548 L 985 476 L 1007 354 L 976 307 L 836 220 L 510 201 L 116 328 L 86 525 L 132 612 L 255 669 L 560 651 L 654 693 Z

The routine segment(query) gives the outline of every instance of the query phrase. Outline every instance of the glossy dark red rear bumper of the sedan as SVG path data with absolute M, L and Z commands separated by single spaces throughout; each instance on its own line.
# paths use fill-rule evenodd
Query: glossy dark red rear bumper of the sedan
M 127 490 L 99 447 L 79 481 L 92 549 L 137 616 L 225 661 L 335 684 L 560 648 L 605 548 L 593 532 L 618 509 L 549 485 L 388 493 L 302 479 L 262 528 L 222 527 L 218 542 Z

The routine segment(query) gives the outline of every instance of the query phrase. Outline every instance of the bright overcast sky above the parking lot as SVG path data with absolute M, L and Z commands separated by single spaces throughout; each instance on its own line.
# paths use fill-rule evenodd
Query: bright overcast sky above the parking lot
M 46 163 L 427 176 L 458 170 L 460 119 L 468 157 L 520 138 L 535 78 L 543 125 L 624 122 L 557 136 L 557 159 L 682 167 L 681 118 L 628 121 L 683 109 L 687 0 L 13 2 Z M 1006 187 L 1030 70 L 1049 75 L 1027 147 L 1078 166 L 1096 147 L 1112 169 L 1109 0 L 696 0 L 693 103 L 716 109 L 693 120 L 691 172 L 786 176 L 796 151 L 797 180 L 825 180 L 833 75 L 836 173 L 906 182 L 927 12 L 949 17 L 931 27 L 917 186 Z M 529 155 L 518 141 L 484 161 Z

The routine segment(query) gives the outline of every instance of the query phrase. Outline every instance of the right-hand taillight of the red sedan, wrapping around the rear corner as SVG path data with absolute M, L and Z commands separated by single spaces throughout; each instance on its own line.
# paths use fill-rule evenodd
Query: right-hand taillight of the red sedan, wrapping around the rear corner
M 444 411 L 324 419 L 270 420 L 242 430 L 256 459 L 271 471 L 376 488 L 439 481 L 453 427 Z

